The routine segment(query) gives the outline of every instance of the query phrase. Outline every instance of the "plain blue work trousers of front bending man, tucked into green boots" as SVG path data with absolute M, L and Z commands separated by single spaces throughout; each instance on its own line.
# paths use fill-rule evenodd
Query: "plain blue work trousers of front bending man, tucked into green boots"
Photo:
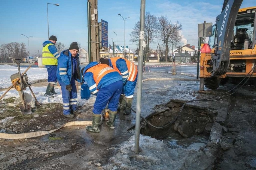
M 118 100 L 123 88 L 123 81 L 117 81 L 108 86 L 101 87 L 98 91 L 95 103 L 93 105 L 93 113 L 101 114 L 102 110 L 108 104 L 108 109 L 117 111 Z

